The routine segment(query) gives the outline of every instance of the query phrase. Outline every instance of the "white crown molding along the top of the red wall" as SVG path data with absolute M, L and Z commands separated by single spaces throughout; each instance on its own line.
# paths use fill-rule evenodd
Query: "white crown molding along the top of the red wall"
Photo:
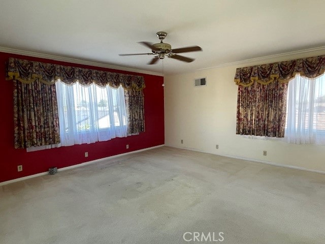
M 108 65 L 105 63 L 91 62 L 91 61 L 77 59 L 77 58 L 56 56 L 56 55 L 51 55 L 51 54 L 39 53 L 39 52 L 24 51 L 24 50 L 8 48 L 8 47 L 0 46 L 0 52 L 32 56 L 32 57 L 39 57 L 39 58 L 47 58 L 47 59 L 52 59 L 52 60 L 56 60 L 56 61 L 68 62 L 68 63 L 79 64 L 79 65 L 89 65 L 89 66 L 95 66 L 95 67 L 101 67 L 101 68 L 141 73 L 141 74 L 164 76 L 164 74 L 157 73 L 157 72 L 151 72 L 151 71 L 147 71 L 147 70 L 138 70 L 138 69 L 133 69 L 133 68 Z

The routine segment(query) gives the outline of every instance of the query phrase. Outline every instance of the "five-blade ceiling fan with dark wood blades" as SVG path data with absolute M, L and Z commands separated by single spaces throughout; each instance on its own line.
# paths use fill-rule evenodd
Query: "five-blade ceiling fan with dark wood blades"
M 139 42 L 140 44 L 150 48 L 151 49 L 150 53 L 134 53 L 134 54 L 119 54 L 119 55 L 120 56 L 156 55 L 148 63 L 148 65 L 153 65 L 159 59 L 164 59 L 165 56 L 190 63 L 190 62 L 194 61 L 195 59 L 190 58 L 190 57 L 184 57 L 184 56 L 178 55 L 176 53 L 202 51 L 202 48 L 199 46 L 191 46 L 191 47 L 182 47 L 182 48 L 172 49 L 172 46 L 170 44 L 163 42 L 163 40 L 167 36 L 166 32 L 157 32 L 156 35 L 159 38 L 160 43 L 151 44 L 150 42 Z

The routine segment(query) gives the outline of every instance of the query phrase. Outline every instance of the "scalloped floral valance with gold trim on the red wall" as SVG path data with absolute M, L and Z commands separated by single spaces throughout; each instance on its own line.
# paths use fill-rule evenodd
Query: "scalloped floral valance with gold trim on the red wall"
M 9 58 L 6 75 L 7 80 L 18 80 L 23 83 L 31 83 L 38 79 L 51 85 L 60 79 L 69 85 L 79 82 L 84 86 L 95 83 L 102 87 L 110 85 L 117 88 L 122 85 L 125 89 L 141 90 L 145 88 L 143 76 L 32 62 L 17 58 Z

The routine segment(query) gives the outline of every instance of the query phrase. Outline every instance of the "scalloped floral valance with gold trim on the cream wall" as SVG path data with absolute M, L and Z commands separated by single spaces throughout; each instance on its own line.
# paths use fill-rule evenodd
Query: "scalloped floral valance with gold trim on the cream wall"
M 269 84 L 274 80 L 289 82 L 296 74 L 308 78 L 322 75 L 325 70 L 325 55 L 296 60 L 278 62 L 267 65 L 257 65 L 236 70 L 237 85 L 250 86 L 254 81 Z

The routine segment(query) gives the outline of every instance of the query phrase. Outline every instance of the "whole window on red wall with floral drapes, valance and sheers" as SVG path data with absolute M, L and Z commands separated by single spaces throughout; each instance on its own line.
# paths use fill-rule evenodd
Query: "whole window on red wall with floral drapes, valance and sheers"
M 15 148 L 40 150 L 145 131 L 143 76 L 12 57 L 6 63 L 6 80 L 14 81 Z

